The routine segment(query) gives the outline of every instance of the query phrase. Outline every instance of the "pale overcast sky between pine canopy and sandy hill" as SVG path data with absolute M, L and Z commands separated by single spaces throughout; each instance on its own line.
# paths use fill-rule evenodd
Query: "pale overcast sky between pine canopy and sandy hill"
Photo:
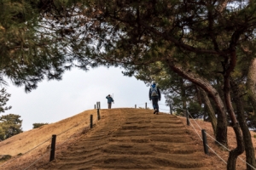
M 38 83 L 38 88 L 26 94 L 24 87 L 17 88 L 9 83 L 6 87 L 11 94 L 7 106 L 9 113 L 20 115 L 22 129 L 32 129 L 35 122 L 59 122 L 80 112 L 94 109 L 97 101 L 102 109 L 107 109 L 108 94 L 113 95 L 113 108 L 144 107 L 148 103 L 149 88 L 135 77 L 125 77 L 119 68 L 99 67 L 90 71 L 73 69 L 64 73 L 61 81 L 44 81 Z M 168 112 L 162 95 L 160 111 Z

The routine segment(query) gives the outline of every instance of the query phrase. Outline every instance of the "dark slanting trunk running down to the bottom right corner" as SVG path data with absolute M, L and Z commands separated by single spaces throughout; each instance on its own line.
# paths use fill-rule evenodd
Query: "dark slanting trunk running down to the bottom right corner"
M 234 93 L 234 101 L 236 104 L 236 115 L 237 115 L 239 125 L 241 127 L 241 132 L 243 134 L 243 140 L 245 143 L 244 145 L 245 145 L 246 156 L 247 156 L 246 161 L 248 164 L 252 165 L 253 167 L 256 167 L 252 137 L 251 137 L 249 128 L 247 127 L 245 116 L 243 114 L 244 109 L 243 109 L 242 100 L 240 97 L 241 91 L 238 88 L 238 85 L 236 84 L 236 82 L 233 81 L 232 79 L 230 79 L 230 85 Z M 253 170 L 254 169 L 253 167 L 250 167 L 249 165 L 247 165 L 247 170 Z

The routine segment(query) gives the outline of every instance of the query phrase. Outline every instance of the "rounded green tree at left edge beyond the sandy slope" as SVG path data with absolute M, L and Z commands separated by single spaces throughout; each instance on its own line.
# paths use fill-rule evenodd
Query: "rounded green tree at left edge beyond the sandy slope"
M 0 139 L 9 139 L 15 134 L 22 133 L 22 120 L 19 115 L 9 114 L 0 117 Z

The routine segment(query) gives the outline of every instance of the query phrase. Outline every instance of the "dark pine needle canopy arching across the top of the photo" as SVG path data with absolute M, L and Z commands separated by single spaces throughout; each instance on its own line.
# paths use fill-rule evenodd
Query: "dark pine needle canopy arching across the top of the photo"
M 241 1 L 56 0 L 0 3 L 0 83 L 9 77 L 26 91 L 44 78 L 98 65 L 121 66 L 125 76 L 156 80 L 166 104 L 193 111 L 201 105 L 193 77 L 179 77 L 178 64 L 223 93 L 223 75 L 237 54 L 235 77 L 245 87 L 254 58 L 256 6 Z M 234 5 L 241 4 L 241 5 Z M 180 75 L 180 73 L 179 73 Z M 246 90 L 243 88 L 244 91 Z M 192 107 L 191 107 L 192 109 Z

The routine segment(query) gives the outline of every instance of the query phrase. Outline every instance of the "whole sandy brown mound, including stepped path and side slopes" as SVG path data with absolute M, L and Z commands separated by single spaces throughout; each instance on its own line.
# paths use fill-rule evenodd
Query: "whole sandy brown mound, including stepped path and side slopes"
M 12 159 L 1 161 L 0 169 L 226 169 L 229 152 L 214 144 L 209 122 L 191 120 L 187 126 L 180 116 L 129 108 L 101 110 L 97 121 L 96 112 L 84 111 L 4 140 L 0 155 L 11 155 Z M 201 129 L 209 134 L 208 155 L 204 154 Z M 230 127 L 228 133 L 229 149 L 233 149 L 235 133 Z M 49 162 L 52 134 L 57 134 L 55 160 Z M 236 169 L 244 170 L 246 163 L 241 160 L 245 156 L 240 157 Z

